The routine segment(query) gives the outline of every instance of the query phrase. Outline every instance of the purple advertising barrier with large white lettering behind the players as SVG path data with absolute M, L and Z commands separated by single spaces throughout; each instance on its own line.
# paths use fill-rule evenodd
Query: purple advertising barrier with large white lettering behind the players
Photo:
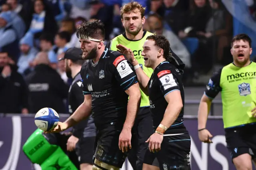
M 34 116 L 35 114 L 0 114 L 0 170 L 40 170 L 38 166 L 32 166 L 22 150 L 29 136 L 37 129 Z M 69 115 L 59 116 L 60 121 L 64 121 Z M 202 143 L 198 139 L 197 116 L 185 115 L 184 124 L 191 137 L 192 170 L 235 170 L 226 149 L 222 116 L 209 115 L 206 128 L 213 135 L 211 144 Z M 122 170 L 132 170 L 128 161 Z

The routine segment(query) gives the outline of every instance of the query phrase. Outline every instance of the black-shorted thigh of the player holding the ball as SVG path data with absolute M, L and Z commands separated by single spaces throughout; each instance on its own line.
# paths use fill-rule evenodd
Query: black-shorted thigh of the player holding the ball
M 94 162 L 100 161 L 104 164 L 122 168 L 128 152 L 123 153 L 118 147 L 121 130 L 122 127 L 108 127 L 103 130 L 99 130 L 97 134 L 98 141 L 96 152 L 94 153 Z

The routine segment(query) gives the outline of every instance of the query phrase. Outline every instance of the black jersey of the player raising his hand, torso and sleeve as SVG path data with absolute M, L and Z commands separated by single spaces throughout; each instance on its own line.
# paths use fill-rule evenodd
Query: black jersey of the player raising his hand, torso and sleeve
M 165 134 L 188 133 L 183 124 L 184 115 L 184 88 L 182 83 L 182 73 L 168 61 L 163 61 L 154 70 L 148 82 L 148 93 L 150 102 L 150 111 L 153 116 L 154 129 L 158 127 L 164 118 L 167 108 L 167 101 L 164 98 L 168 93 L 178 90 L 180 91 L 183 108 Z

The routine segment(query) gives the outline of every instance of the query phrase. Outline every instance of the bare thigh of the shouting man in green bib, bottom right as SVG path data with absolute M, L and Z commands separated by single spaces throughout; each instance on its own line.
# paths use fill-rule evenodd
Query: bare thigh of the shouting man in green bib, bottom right
M 232 159 L 236 170 L 252 170 L 252 156 L 249 154 L 241 154 Z

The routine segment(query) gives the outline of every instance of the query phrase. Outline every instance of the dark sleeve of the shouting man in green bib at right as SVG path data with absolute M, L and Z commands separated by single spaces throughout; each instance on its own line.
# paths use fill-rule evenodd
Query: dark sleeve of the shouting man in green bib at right
M 210 78 L 208 84 L 206 85 L 204 94 L 210 99 L 214 99 L 218 95 L 218 93 L 222 90 L 220 87 L 221 71 L 222 69 L 216 71 Z

